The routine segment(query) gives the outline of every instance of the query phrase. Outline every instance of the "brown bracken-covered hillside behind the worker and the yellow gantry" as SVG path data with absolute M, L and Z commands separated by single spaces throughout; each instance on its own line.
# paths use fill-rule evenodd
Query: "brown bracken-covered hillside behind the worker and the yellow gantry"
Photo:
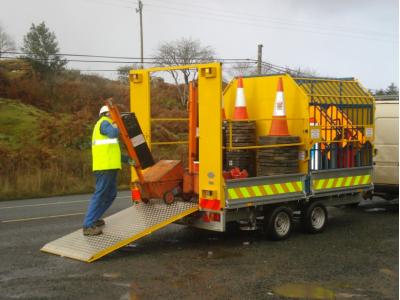
M 24 70 L 24 71 L 21 71 Z M 152 81 L 152 117 L 187 117 L 176 86 Z M 129 85 L 64 70 L 36 74 L 22 60 L 0 60 L 0 200 L 91 192 L 91 135 L 104 100 L 129 109 Z M 153 141 L 187 136 L 187 124 L 152 123 Z M 186 159 L 185 145 L 154 146 L 158 159 Z M 119 176 L 129 185 L 129 168 Z

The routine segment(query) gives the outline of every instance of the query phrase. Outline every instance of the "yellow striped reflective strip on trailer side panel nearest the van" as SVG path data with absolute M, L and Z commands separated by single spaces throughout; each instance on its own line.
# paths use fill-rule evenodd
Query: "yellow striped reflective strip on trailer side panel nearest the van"
M 346 177 L 334 177 L 313 180 L 314 190 L 335 189 L 342 187 L 352 187 L 357 185 L 367 185 L 371 183 L 371 175 L 357 175 Z

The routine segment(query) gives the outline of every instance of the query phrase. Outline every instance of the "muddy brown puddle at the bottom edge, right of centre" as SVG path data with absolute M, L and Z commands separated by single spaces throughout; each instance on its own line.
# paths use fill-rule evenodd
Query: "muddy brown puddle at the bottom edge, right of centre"
M 335 299 L 335 293 L 315 284 L 287 283 L 272 288 L 273 292 L 282 297 L 294 299 Z

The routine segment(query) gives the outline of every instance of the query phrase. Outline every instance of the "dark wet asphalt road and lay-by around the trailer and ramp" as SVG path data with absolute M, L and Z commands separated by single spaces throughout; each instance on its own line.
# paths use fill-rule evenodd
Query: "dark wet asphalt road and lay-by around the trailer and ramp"
M 398 299 L 398 213 L 329 209 L 318 235 L 169 225 L 87 264 L 42 253 L 82 224 L 90 195 L 0 202 L 0 299 Z M 121 192 L 108 214 L 130 205 Z

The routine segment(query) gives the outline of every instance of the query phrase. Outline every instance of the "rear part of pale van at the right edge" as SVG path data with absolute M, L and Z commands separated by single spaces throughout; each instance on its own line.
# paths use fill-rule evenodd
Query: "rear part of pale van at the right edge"
M 398 202 L 399 97 L 375 98 L 374 194 Z

